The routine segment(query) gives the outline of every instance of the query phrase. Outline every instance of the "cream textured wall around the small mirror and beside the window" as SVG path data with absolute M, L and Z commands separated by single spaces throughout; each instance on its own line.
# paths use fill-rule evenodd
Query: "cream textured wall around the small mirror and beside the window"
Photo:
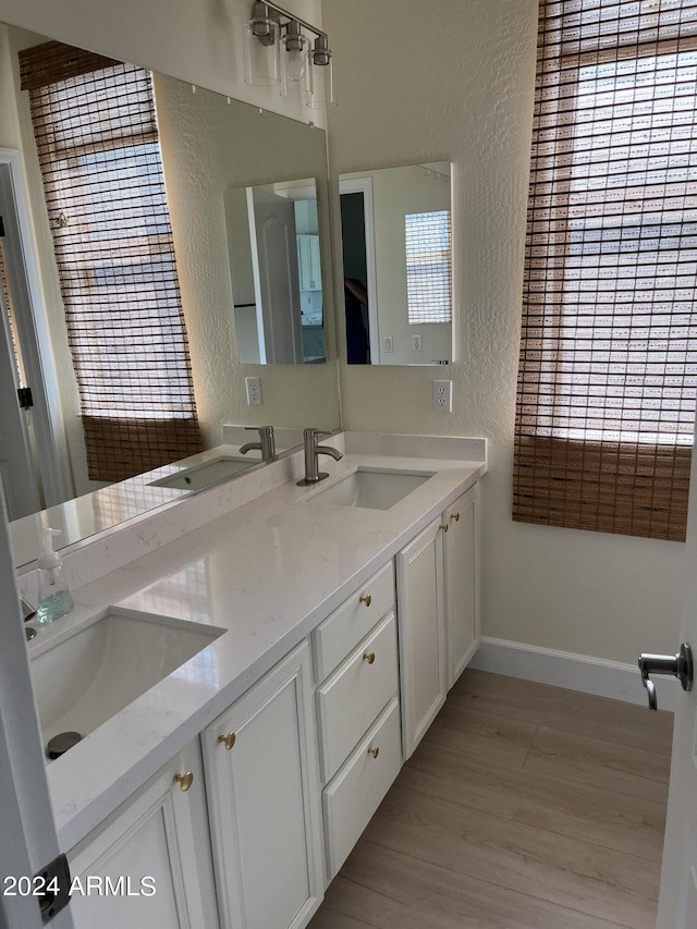
M 454 163 L 454 412 L 430 408 L 442 369 L 342 365 L 344 427 L 489 438 L 486 635 L 627 662 L 674 651 L 684 546 L 511 521 L 536 0 L 323 0 L 323 21 L 332 174 Z

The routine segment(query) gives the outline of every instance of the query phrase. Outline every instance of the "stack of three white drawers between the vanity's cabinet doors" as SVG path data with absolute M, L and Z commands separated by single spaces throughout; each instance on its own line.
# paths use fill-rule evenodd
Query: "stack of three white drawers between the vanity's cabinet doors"
M 390 561 L 313 634 L 328 880 L 402 767 L 394 606 Z

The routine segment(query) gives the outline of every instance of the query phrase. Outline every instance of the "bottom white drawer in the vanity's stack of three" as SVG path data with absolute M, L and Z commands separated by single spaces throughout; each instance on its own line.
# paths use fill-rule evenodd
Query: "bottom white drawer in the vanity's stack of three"
M 400 705 L 393 699 L 322 792 L 330 880 L 346 860 L 401 767 Z

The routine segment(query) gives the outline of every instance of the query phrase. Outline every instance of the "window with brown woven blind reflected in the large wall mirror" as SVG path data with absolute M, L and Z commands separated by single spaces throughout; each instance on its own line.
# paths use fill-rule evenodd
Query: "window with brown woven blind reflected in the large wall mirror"
M 149 72 L 20 52 L 93 480 L 201 450 Z

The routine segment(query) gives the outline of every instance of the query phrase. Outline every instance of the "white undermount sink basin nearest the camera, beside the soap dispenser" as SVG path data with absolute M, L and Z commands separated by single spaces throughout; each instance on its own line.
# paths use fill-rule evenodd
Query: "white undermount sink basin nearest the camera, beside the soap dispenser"
M 96 616 L 30 659 L 45 742 L 94 732 L 223 632 L 118 608 Z

